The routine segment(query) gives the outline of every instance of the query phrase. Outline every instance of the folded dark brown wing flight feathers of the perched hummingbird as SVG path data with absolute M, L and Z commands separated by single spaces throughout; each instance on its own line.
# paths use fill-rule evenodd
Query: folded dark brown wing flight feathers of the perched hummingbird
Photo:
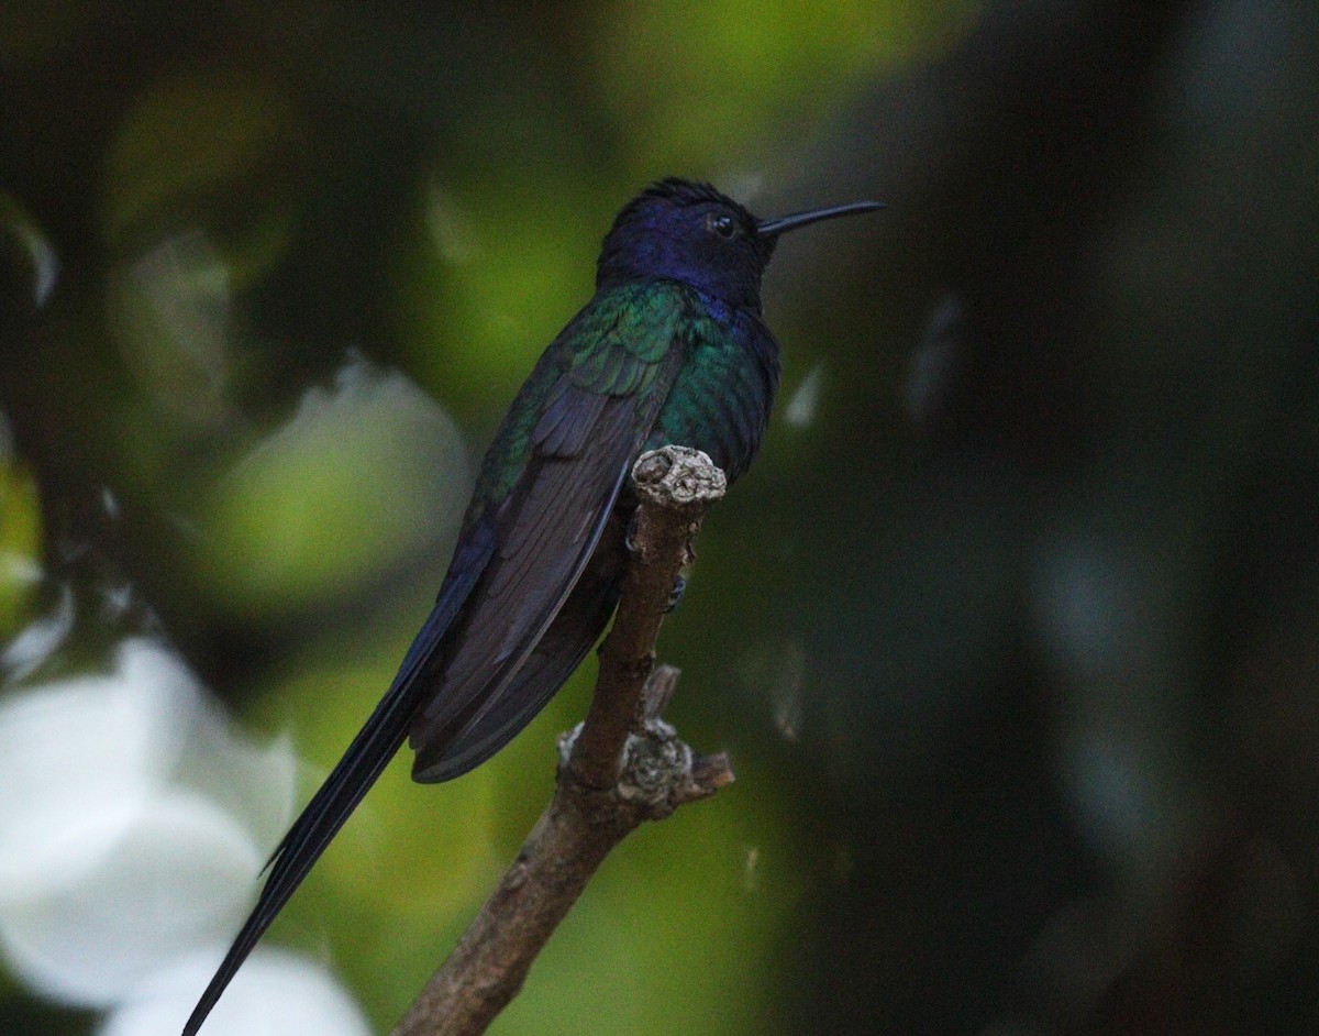
M 629 362 L 636 354 L 625 352 Z M 561 447 L 562 420 L 554 418 L 553 434 L 541 439 L 521 482 L 496 515 L 500 549 L 491 560 L 480 585 L 464 608 L 462 626 L 446 641 L 446 657 L 438 681 L 442 692 L 417 715 L 409 742 L 417 754 L 413 776 L 419 781 L 447 780 L 466 772 L 525 726 L 568 677 L 590 649 L 579 637 L 546 645 L 542 659 L 534 655 L 551 630 L 555 616 L 578 583 L 613 511 L 632 462 L 650 433 L 685 355 L 685 343 L 671 338 L 657 370 L 644 375 L 644 392 L 611 395 L 621 368 L 596 364 L 603 380 L 594 391 L 582 385 L 557 387 L 555 403 L 595 396 L 583 412 L 594 413 L 571 436 L 571 455 L 549 455 L 543 445 Z M 566 376 L 580 375 L 578 366 Z M 638 380 L 641 383 L 641 380 Z M 539 426 L 538 426 L 539 430 Z M 538 436 L 533 434 L 533 442 Z M 566 624 L 565 628 L 570 628 Z M 530 664 L 530 669 L 522 670 Z M 533 672 L 539 676 L 533 678 Z

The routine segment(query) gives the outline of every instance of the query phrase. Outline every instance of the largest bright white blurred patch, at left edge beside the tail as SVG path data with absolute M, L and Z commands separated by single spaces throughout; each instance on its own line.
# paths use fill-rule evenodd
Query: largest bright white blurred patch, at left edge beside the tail
M 121 1000 L 232 930 L 293 784 L 288 746 L 236 739 L 152 640 L 124 641 L 109 674 L 11 698 L 0 705 L 0 952 L 47 996 Z

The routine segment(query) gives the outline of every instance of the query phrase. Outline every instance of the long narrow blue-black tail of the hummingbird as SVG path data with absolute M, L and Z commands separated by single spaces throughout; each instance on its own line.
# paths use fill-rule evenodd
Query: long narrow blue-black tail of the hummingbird
M 261 895 L 257 896 L 256 907 L 243 924 L 230 952 L 224 954 L 202 999 L 193 1008 L 187 1024 L 183 1025 L 183 1036 L 197 1036 L 206 1016 L 211 1014 L 211 1008 L 243 966 L 243 961 L 252 953 L 257 940 L 307 876 L 307 871 L 339 833 L 357 802 L 376 783 L 376 777 L 402 747 L 413 717 L 433 690 L 429 684 L 434 664 L 439 659 L 441 640 L 489 561 L 492 548 L 493 537 L 485 527 L 470 531 L 466 542 L 459 545 L 435 607 L 408 649 L 394 682 L 367 719 L 367 725 L 352 739 L 348 751 L 330 772 L 326 783 L 284 835 L 280 847 L 274 850 L 266 864 L 270 874 Z

